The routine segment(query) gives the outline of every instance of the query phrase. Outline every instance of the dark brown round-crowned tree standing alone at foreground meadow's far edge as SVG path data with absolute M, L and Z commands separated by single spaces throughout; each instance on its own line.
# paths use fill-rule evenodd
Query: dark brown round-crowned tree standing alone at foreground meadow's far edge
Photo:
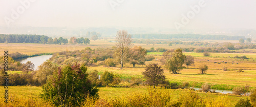
M 163 69 L 157 63 L 146 66 L 145 71 L 142 72 L 142 75 L 146 79 L 145 82 L 153 85 L 153 88 L 155 88 L 155 85 L 162 84 L 165 81 Z

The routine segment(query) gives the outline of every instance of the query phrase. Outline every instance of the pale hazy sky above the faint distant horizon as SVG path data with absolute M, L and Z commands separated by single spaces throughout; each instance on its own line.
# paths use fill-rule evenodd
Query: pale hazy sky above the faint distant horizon
M 27 7 L 20 3 L 24 1 L 29 0 L 0 0 L 0 26 L 7 27 L 9 19 L 11 27 L 175 29 L 175 22 L 182 24 L 182 14 L 190 12 L 189 21 L 180 29 L 256 29 L 255 0 L 205 0 L 203 7 L 191 0 L 31 0 Z M 200 11 L 193 12 L 191 6 L 199 6 Z M 12 9 L 18 9 L 19 16 L 12 18 Z

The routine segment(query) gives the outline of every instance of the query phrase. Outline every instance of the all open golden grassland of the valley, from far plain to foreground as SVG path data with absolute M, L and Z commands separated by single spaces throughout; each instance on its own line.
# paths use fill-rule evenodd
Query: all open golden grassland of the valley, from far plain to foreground
M 40 54 L 40 53 L 55 53 L 60 51 L 74 51 L 82 50 L 86 47 L 92 49 L 97 48 L 112 48 L 115 46 L 110 40 L 95 40 L 91 41 L 90 45 L 42 45 L 42 44 L 0 44 L 0 50 L 8 50 L 9 53 L 20 52 L 28 55 Z M 143 48 L 150 49 L 152 47 L 156 48 L 188 48 L 188 46 L 177 45 L 177 46 L 167 46 L 167 45 L 146 45 L 146 44 L 133 44 L 135 46 L 142 46 Z M 190 47 L 190 46 L 189 46 Z M 196 46 L 192 46 L 196 48 Z M 255 50 L 252 50 L 255 51 Z M 152 61 L 146 61 L 145 65 L 150 63 L 161 63 L 162 52 L 151 52 L 147 55 L 154 56 L 155 59 Z M 164 75 L 170 82 L 188 81 L 190 85 L 195 87 L 200 87 L 202 83 L 211 83 L 212 88 L 219 90 L 232 90 L 232 88 L 237 86 L 250 85 L 252 88 L 256 88 L 256 54 L 255 53 L 210 53 L 211 56 L 204 57 L 203 53 L 194 52 L 184 52 L 185 55 L 191 55 L 195 57 L 195 66 L 189 66 L 189 68 L 184 68 L 179 73 L 171 74 L 168 70 L 164 70 Z M 231 58 L 234 56 L 245 55 L 249 59 L 237 59 Z M 217 63 L 214 63 L 217 62 Z M 227 63 L 225 63 L 227 62 Z M 96 66 L 89 67 L 88 72 L 93 70 L 99 71 L 99 74 L 104 71 L 110 71 L 115 74 L 120 75 L 122 80 L 131 78 L 142 78 L 141 72 L 144 71 L 145 65 L 133 65 L 126 63 L 123 70 L 120 70 L 120 65 L 117 67 L 105 67 L 98 65 L 101 61 L 98 61 Z M 219 64 L 218 64 L 219 63 Z M 207 65 L 209 70 L 207 74 L 199 74 L 199 66 Z M 227 67 L 227 71 L 223 71 L 223 67 Z M 243 69 L 244 72 L 238 72 L 238 69 Z M 22 73 L 22 71 L 9 71 L 9 73 Z M 41 93 L 41 87 L 9 87 L 9 94 L 15 95 L 17 97 L 32 97 L 38 98 Z M 170 90 L 172 92 L 172 98 L 177 99 L 179 94 L 181 94 L 181 89 Z M 132 88 L 108 88 L 102 87 L 99 91 L 100 98 L 114 98 L 127 95 L 130 93 L 147 93 L 147 87 L 138 86 Z M 0 93 L 4 93 L 4 88 L 0 87 Z M 197 92 L 202 98 L 215 98 L 217 96 L 227 95 L 231 100 L 232 105 L 234 105 L 240 98 L 246 98 L 247 96 L 237 96 L 231 94 L 217 94 L 217 93 L 202 93 Z

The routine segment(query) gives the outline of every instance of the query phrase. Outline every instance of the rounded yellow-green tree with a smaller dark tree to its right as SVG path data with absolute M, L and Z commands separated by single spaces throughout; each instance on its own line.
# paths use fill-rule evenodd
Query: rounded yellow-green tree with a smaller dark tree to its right
M 166 60 L 166 68 L 173 74 L 178 74 L 183 69 L 185 55 L 182 54 L 181 49 L 176 49 L 172 52 L 169 59 Z

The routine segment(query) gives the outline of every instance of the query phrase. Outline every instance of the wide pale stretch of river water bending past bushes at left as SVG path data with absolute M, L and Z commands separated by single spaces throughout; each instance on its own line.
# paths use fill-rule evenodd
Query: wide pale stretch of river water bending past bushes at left
M 34 70 L 37 70 L 37 66 L 40 66 L 44 61 L 48 60 L 52 55 L 41 55 L 41 56 L 35 56 L 35 57 L 29 57 L 29 58 L 22 58 L 18 59 L 20 63 L 26 63 L 27 61 L 31 61 L 34 65 L 35 68 Z

